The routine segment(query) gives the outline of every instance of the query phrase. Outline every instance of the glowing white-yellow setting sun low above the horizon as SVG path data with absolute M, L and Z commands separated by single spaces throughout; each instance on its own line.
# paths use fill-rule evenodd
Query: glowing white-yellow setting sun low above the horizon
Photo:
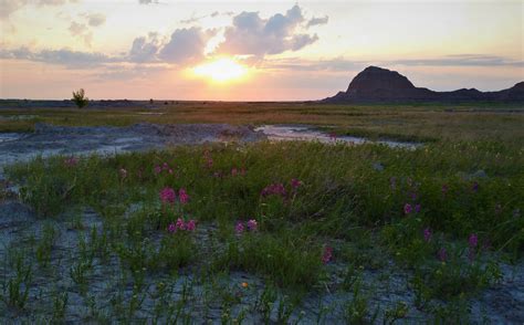
M 248 73 L 245 66 L 230 57 L 221 57 L 212 62 L 203 63 L 193 67 L 192 71 L 198 76 L 208 77 L 219 83 L 240 80 Z

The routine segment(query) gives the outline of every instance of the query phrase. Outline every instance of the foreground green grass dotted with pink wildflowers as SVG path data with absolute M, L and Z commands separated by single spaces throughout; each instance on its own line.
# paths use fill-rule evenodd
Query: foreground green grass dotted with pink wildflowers
M 245 315 L 325 319 L 328 311 L 356 324 L 392 323 L 413 311 L 436 322 L 469 319 L 469 300 L 501 281 L 500 263 L 522 259 L 522 166 L 515 141 L 415 150 L 258 143 L 36 158 L 7 171 L 40 218 L 77 224 L 64 273 L 66 291 L 91 308 L 83 319 L 185 322 L 219 304 L 228 324 Z M 85 207 L 101 224 L 72 220 Z M 2 265 L 3 311 L 31 313 L 35 268 L 63 268 L 52 258 L 59 235 L 49 226 L 28 243 L 38 265 L 21 258 Z M 101 268 L 113 270 L 107 303 L 91 289 Z M 377 270 L 382 275 L 371 281 Z M 244 280 L 223 281 L 238 272 Z M 399 273 L 415 298 L 374 303 L 374 285 L 388 286 Z M 319 304 L 313 318 L 302 313 L 312 295 L 325 294 L 339 295 L 338 305 Z M 42 317 L 63 319 L 70 301 L 56 292 Z M 159 306 L 153 315 L 145 312 L 151 304 Z

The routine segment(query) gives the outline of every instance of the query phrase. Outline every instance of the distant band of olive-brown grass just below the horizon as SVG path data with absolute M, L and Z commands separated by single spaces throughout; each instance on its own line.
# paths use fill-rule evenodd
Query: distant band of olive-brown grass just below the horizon
M 31 130 L 34 123 L 71 126 L 125 126 L 140 122 L 252 125 L 293 123 L 335 126 L 337 134 L 371 138 L 419 141 L 496 139 L 517 144 L 524 141 L 522 104 L 166 103 L 168 105 L 159 102 L 150 106 L 148 101 L 128 102 L 118 107 L 106 101 L 104 107 L 107 108 L 104 108 L 98 102 L 92 101 L 90 108 L 78 114 L 77 109 L 73 108 L 24 108 L 23 102 L 0 101 L 0 132 Z M 18 106 L 20 108 L 14 108 Z

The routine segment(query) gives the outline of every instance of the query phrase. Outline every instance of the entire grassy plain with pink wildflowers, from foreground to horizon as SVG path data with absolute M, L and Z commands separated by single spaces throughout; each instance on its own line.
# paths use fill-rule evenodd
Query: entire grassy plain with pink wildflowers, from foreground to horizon
M 184 103 L 153 109 L 164 115 L 138 114 L 146 107 L 2 108 L 0 116 L 34 117 L 0 119 L 0 127 L 302 123 L 426 143 L 405 150 L 263 141 L 11 166 L 9 179 L 21 186 L 17 199 L 35 217 L 2 250 L 0 314 L 222 324 L 524 317 L 516 305 L 522 287 L 511 282 L 522 274 L 524 251 L 521 108 Z

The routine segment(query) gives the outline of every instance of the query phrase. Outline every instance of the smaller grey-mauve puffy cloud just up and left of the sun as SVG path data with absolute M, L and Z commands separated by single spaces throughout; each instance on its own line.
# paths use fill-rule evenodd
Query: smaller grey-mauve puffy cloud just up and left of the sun
M 206 45 L 213 35 L 214 30 L 177 29 L 168 43 L 158 53 L 158 57 L 169 63 L 188 63 L 203 59 Z

